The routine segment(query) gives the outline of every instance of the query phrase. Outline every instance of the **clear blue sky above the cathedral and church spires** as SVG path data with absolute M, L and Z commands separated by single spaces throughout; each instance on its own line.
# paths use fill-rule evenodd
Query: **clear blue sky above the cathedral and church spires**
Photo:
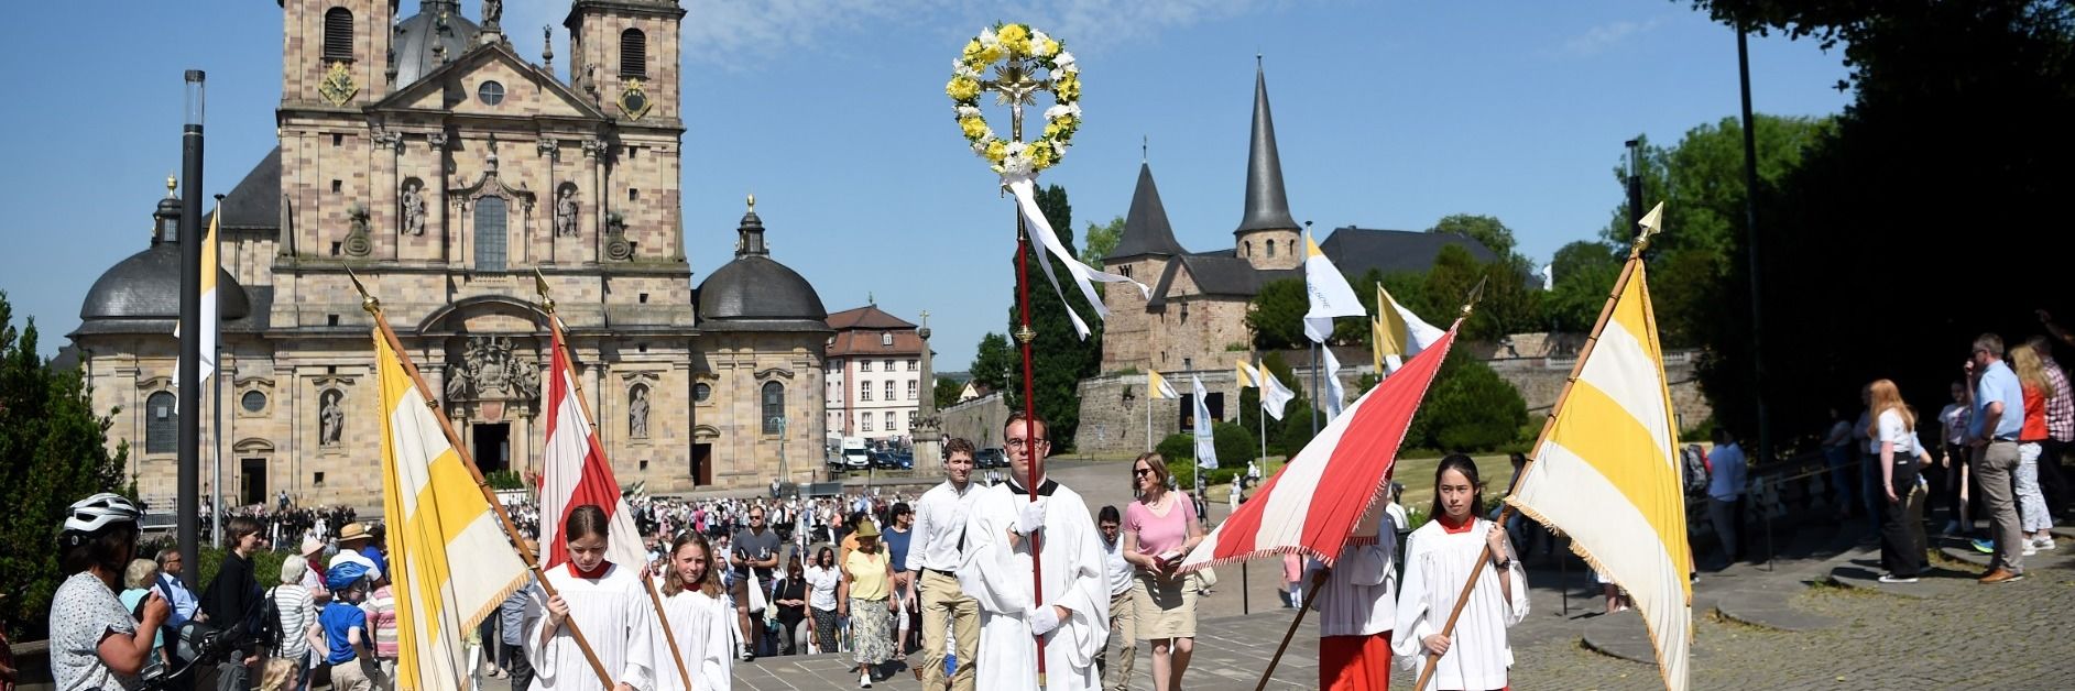
M 417 0 L 400 0 L 405 17 Z M 540 56 L 564 0 L 510 0 Z M 1623 141 L 1677 141 L 1737 114 L 1735 33 L 1687 2 L 687 0 L 685 234 L 693 280 L 728 261 L 743 195 L 774 257 L 830 311 L 932 313 L 940 369 L 1004 330 L 1013 216 L 942 93 L 965 39 L 998 19 L 1067 39 L 1085 125 L 1040 183 L 1075 230 L 1125 212 L 1141 137 L 1181 243 L 1230 247 L 1245 187 L 1255 52 L 1266 54 L 1291 210 L 1318 228 L 1421 230 L 1492 214 L 1538 261 L 1592 239 L 1621 203 Z M 463 4 L 477 17 L 477 0 Z M 91 23 L 79 33 L 81 21 Z M 208 193 L 274 145 L 274 2 L 33 2 L 0 25 L 0 291 L 44 353 L 79 326 L 108 266 L 149 241 L 181 164 L 181 71 L 210 73 Z M 1841 54 L 1753 37 L 1770 114 L 1834 114 Z M 1006 114 L 992 112 L 998 125 Z M 1668 228 L 1679 232 L 1679 228 Z M 1324 232 L 1322 232 L 1324 234 Z

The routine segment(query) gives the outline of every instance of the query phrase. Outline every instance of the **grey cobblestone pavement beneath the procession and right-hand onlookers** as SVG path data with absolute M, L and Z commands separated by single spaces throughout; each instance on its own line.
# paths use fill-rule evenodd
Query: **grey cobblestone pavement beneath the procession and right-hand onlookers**
M 1054 477 L 1081 490 L 1089 506 L 1123 506 L 1120 463 L 1062 463 Z M 1212 519 L 1224 517 L 1212 508 Z M 1782 556 L 1772 571 L 1739 564 L 1724 573 L 1704 573 L 1695 587 L 1695 643 L 1691 689 L 2069 689 L 2075 681 L 2075 544 L 2027 560 L 2029 577 L 2009 585 L 1977 585 L 1977 569 L 1934 556 L 1934 569 L 1915 585 L 1882 585 L 1897 591 L 1826 585 L 1834 566 L 1878 569 L 1878 552 L 1855 546 L 1847 552 L 1820 548 L 1851 546 L 1863 523 L 1845 529 L 1801 529 L 1782 535 Z M 1785 533 L 1785 531 L 1782 531 Z M 1816 548 L 1811 548 L 1816 546 Z M 1237 571 L 1237 573 L 1235 573 Z M 1220 569 L 1218 591 L 1201 602 L 1201 637 L 1189 666 L 1189 689 L 1253 689 L 1276 643 L 1289 629 L 1293 610 L 1278 608 L 1276 564 Z M 1241 575 L 1247 577 L 1247 610 L 1241 614 Z M 1567 571 L 1533 564 L 1533 612 L 1513 629 L 1513 681 L 1521 689 L 1662 689 L 1654 664 L 1629 662 L 1587 649 L 1583 629 L 1602 620 L 1589 573 L 1569 562 Z M 1726 620 L 1712 614 L 1712 598 L 1724 589 L 1766 587 L 1778 591 L 1795 612 L 1822 614 L 1834 625 L 1789 633 Z M 1569 612 L 1565 596 L 1569 593 Z M 1724 596 L 1726 598 L 1726 596 Z M 1633 614 L 1627 625 L 1641 629 Z M 737 664 L 737 689 L 855 689 L 857 676 L 836 656 L 764 658 Z M 874 689 L 921 689 L 898 664 Z M 1392 676 L 1394 689 L 1411 689 L 1411 672 Z M 1141 643 L 1133 689 L 1147 689 L 1150 662 Z M 1270 689 L 1318 687 L 1318 629 L 1305 623 L 1284 654 Z M 504 681 L 486 681 L 488 691 L 506 691 Z

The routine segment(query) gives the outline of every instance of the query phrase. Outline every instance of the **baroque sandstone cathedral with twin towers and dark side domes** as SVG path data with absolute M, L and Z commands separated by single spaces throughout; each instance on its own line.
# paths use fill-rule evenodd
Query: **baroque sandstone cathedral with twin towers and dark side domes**
M 374 322 L 349 270 L 486 473 L 540 471 L 537 272 L 620 486 L 811 479 L 822 299 L 772 259 L 755 199 L 732 261 L 695 286 L 685 259 L 679 2 L 571 2 L 566 79 L 552 35 L 537 62 L 513 52 L 502 2 L 479 21 L 457 0 L 403 19 L 396 4 L 282 2 L 280 145 L 201 222 L 220 222 L 222 320 L 203 483 L 220 448 L 226 504 L 380 504 Z M 110 444 L 129 444 L 139 492 L 162 506 L 185 413 L 181 214 L 160 201 L 151 247 L 93 284 L 71 334 L 95 409 L 118 411 Z

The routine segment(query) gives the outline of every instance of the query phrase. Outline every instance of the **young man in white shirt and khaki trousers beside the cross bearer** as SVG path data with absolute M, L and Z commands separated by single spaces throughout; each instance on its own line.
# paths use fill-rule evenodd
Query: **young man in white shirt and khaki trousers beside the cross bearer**
M 973 442 L 944 442 L 944 481 L 923 492 L 915 502 L 915 525 L 907 550 L 907 569 L 921 589 L 921 666 L 915 674 L 923 689 L 944 689 L 944 627 L 959 652 L 959 672 L 950 676 L 955 691 L 973 689 L 973 662 L 979 652 L 979 604 L 959 587 L 959 550 L 965 519 L 979 488 L 973 483 Z

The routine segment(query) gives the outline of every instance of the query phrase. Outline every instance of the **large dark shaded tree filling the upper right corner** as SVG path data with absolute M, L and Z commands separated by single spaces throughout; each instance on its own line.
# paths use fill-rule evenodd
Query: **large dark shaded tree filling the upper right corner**
M 2071 2 L 1693 4 L 1726 27 L 1843 48 L 1853 93 L 1791 172 L 1770 176 L 1760 143 L 1758 226 L 1735 234 L 1702 330 L 1699 382 L 1722 427 L 1749 438 L 1764 400 L 1787 450 L 1874 378 L 1934 405 L 1975 334 L 2013 342 L 2040 332 L 2034 309 L 2075 313 L 2065 253 L 2042 251 L 2065 245 L 2075 189 Z M 1915 274 L 1938 288 L 1897 280 Z M 1884 315 L 1915 320 L 1905 338 L 1851 347 Z

